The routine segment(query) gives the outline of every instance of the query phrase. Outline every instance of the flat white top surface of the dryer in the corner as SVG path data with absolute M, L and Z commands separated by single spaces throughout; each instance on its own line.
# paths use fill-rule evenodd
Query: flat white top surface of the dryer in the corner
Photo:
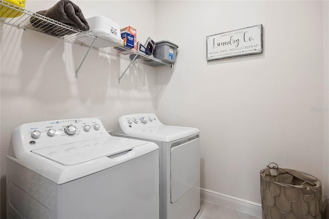
M 134 130 L 127 135 L 145 140 L 170 142 L 196 135 L 199 132 L 200 131 L 194 127 L 159 125 L 147 129 Z

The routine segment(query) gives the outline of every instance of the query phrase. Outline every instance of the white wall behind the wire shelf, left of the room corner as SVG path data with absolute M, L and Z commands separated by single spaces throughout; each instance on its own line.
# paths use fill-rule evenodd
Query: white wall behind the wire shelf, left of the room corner
M 137 29 L 145 42 L 155 35 L 152 1 L 74 1 L 85 17 L 102 15 L 120 27 Z M 26 1 L 33 12 L 57 1 Z M 130 7 L 127 7 L 129 4 Z M 147 24 L 147 25 L 145 25 Z M 102 117 L 107 130 L 115 130 L 119 116 L 155 112 L 154 68 L 133 64 L 118 83 L 129 62 L 90 50 L 74 77 L 87 48 L 30 30 L 1 26 L 1 218 L 5 218 L 6 154 L 14 127 L 33 121 Z

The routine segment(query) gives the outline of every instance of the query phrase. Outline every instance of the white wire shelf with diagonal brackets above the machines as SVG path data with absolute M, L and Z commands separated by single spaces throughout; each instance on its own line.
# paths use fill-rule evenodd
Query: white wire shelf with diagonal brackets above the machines
M 135 61 L 153 67 L 159 65 L 168 65 L 172 67 L 172 64 L 170 63 L 163 62 L 152 56 L 148 56 L 145 53 L 136 51 L 135 49 L 127 48 L 125 46 L 120 46 L 112 41 L 101 38 L 100 36 L 97 36 L 90 32 L 76 30 L 66 24 L 52 20 L 49 17 L 31 12 L 27 9 L 21 8 L 19 6 L 13 5 L 3 0 L 0 0 L 0 10 L 1 10 L 0 16 L 4 16 L 4 15 L 6 16 L 6 17 L 1 17 L 0 22 L 6 25 L 22 28 L 24 30 L 31 29 L 34 31 L 53 35 L 63 39 L 65 42 L 87 46 L 89 47 L 89 49 L 94 48 L 102 53 L 108 54 L 110 56 L 120 57 L 121 59 L 128 60 L 131 62 Z M 22 14 L 22 15 L 17 16 L 17 14 Z M 11 17 L 14 15 L 16 15 L 16 17 Z M 78 70 L 76 71 L 76 77 L 81 65 L 82 63 L 80 64 Z

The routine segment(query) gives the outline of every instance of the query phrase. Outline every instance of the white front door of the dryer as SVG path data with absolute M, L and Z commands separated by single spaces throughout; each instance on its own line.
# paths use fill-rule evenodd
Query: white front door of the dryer
M 176 202 L 200 180 L 200 140 L 194 138 L 171 149 L 171 203 Z

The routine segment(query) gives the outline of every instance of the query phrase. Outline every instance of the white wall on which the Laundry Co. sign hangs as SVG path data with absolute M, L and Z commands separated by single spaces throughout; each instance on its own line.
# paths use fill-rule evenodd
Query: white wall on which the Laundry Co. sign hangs
M 322 4 L 157 2 L 157 40 L 175 42 L 179 54 L 174 74 L 156 70 L 156 112 L 169 124 L 200 129 L 202 188 L 260 203 L 259 172 L 269 162 L 327 183 L 328 112 L 313 110 L 328 92 Z M 206 61 L 207 35 L 257 24 L 262 54 Z

